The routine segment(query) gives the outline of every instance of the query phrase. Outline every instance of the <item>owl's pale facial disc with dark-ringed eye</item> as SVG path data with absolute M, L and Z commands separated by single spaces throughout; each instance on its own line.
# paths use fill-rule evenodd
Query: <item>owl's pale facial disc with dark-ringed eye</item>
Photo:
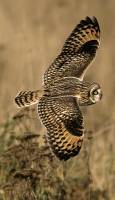
M 101 98 L 102 98 L 102 90 L 98 84 L 95 84 L 90 89 L 90 100 L 92 101 L 92 103 L 96 103 L 100 101 Z

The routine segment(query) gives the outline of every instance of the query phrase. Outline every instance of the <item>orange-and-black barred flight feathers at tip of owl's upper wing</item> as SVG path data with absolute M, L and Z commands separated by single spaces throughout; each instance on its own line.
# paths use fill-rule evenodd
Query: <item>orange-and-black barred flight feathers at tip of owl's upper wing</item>
M 100 41 L 100 27 L 96 17 L 86 17 L 85 20 L 81 20 L 75 27 L 70 36 L 67 38 L 62 52 L 67 51 L 68 54 L 71 51 L 79 51 L 83 44 L 88 41 L 96 40 L 97 46 Z

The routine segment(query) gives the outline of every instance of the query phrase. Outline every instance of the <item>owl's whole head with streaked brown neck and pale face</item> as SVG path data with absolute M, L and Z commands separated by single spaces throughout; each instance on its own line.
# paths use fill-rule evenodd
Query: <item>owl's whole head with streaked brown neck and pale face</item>
M 84 84 L 83 84 L 84 85 Z M 102 90 L 97 83 L 86 83 L 86 87 L 83 87 L 79 99 L 81 106 L 92 105 L 100 101 L 102 98 Z

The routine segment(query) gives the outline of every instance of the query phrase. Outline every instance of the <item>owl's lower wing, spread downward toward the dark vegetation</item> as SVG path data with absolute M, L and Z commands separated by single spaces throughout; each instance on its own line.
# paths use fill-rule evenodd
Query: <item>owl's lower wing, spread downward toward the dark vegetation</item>
M 39 116 L 47 128 L 51 149 L 60 160 L 77 155 L 83 142 L 83 117 L 76 99 L 42 97 L 38 104 Z

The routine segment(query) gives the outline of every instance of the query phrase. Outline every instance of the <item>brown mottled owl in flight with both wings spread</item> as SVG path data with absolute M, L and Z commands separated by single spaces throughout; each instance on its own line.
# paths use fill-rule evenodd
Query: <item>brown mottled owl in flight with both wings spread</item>
M 68 160 L 81 149 L 84 122 L 80 106 L 101 100 L 100 85 L 83 79 L 99 44 L 98 21 L 95 17 L 86 17 L 75 27 L 61 53 L 46 70 L 43 88 L 22 91 L 15 98 L 18 107 L 38 104 L 49 145 L 60 160 Z

